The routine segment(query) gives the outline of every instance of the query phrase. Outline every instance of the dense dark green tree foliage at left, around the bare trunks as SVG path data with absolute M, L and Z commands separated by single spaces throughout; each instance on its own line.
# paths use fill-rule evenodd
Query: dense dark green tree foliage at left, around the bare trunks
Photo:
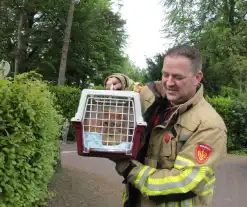
M 13 64 L 17 52 L 20 5 L 23 0 L 0 2 L 0 56 Z M 23 8 L 19 73 L 36 69 L 57 83 L 70 0 L 33 0 Z M 111 11 L 109 0 L 81 1 L 74 11 L 68 51 L 66 84 L 87 87 L 124 62 L 125 21 Z

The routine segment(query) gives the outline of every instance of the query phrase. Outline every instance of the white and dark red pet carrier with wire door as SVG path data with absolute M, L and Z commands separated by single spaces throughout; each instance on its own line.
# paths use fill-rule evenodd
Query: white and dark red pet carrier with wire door
M 71 119 L 81 156 L 135 158 L 145 130 L 139 94 L 84 89 Z

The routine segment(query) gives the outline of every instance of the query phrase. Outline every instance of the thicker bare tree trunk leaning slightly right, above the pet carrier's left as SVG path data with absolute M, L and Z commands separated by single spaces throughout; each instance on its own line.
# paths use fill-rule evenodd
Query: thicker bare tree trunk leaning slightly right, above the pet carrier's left
M 73 21 L 73 14 L 75 10 L 75 3 L 76 1 L 72 0 L 71 6 L 68 12 L 67 26 L 65 29 L 62 57 L 61 57 L 59 77 L 58 77 L 58 85 L 62 85 L 62 86 L 65 84 L 67 54 L 68 54 L 68 49 L 69 49 L 70 33 L 71 33 L 71 27 L 72 27 L 72 21 Z

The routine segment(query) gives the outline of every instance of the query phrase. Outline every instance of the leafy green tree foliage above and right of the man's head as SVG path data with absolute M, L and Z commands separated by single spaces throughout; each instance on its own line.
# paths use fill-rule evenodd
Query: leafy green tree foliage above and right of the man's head
M 240 88 L 236 70 L 247 67 L 247 2 L 163 0 L 163 3 L 168 11 L 164 25 L 167 37 L 176 44 L 188 43 L 200 49 L 206 89 L 215 94 L 222 86 Z

